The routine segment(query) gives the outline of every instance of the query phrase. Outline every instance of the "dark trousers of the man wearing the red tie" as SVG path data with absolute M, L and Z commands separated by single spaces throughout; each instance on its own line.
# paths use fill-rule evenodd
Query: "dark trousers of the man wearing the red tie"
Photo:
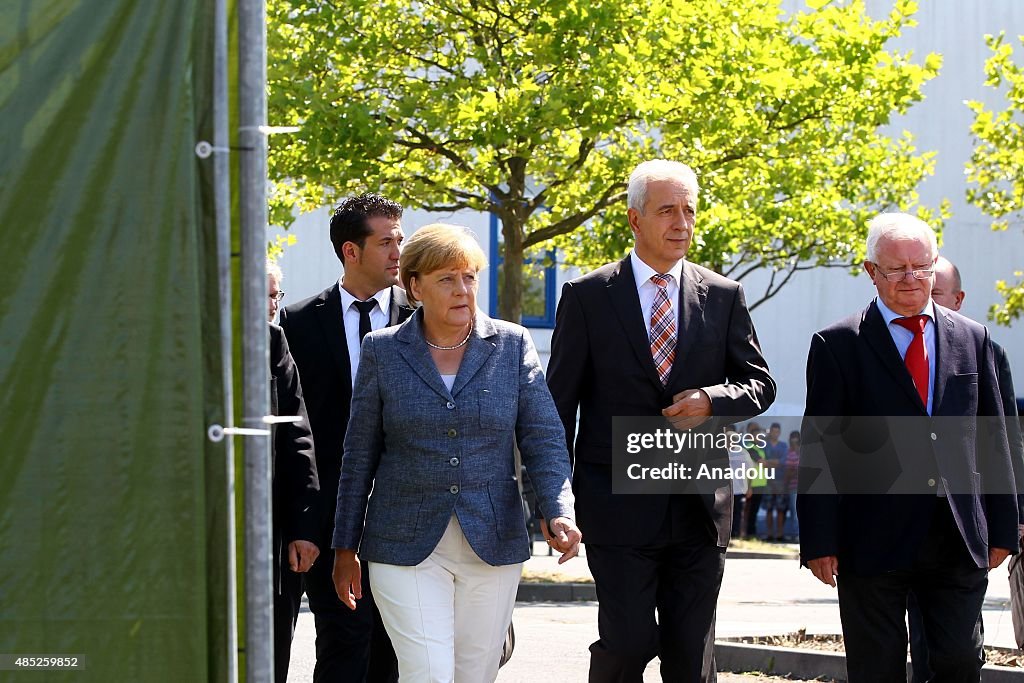
M 984 664 L 981 606 L 987 569 L 975 565 L 945 499 L 909 569 L 860 577 L 840 564 L 839 607 L 850 683 L 906 681 L 906 610 L 912 591 L 932 683 L 977 683 Z

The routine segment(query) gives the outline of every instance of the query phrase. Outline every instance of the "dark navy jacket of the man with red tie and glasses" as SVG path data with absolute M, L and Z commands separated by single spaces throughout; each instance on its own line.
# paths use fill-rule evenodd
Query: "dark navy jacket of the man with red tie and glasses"
M 932 417 L 874 302 L 814 335 L 797 501 L 803 562 L 836 555 L 841 572 L 861 575 L 909 568 L 940 480 L 979 567 L 988 566 L 990 545 L 1016 551 L 1017 504 L 988 330 L 939 305 L 935 314 Z M 997 417 L 976 420 L 983 416 Z M 823 490 L 815 482 L 828 476 L 837 495 L 808 493 Z

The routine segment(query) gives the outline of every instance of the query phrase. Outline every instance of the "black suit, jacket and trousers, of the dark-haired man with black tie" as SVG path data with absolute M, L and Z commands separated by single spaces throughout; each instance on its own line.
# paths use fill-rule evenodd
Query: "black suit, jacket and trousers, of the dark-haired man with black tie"
M 389 325 L 404 321 L 412 312 L 404 291 L 392 287 Z M 364 572 L 364 599 L 354 611 L 338 599 L 331 575 L 334 508 L 352 398 L 351 364 L 338 284 L 282 310 L 281 326 L 302 376 L 321 481 L 316 545 L 327 557 L 315 562 L 305 575 L 309 608 L 316 624 L 313 680 L 392 681 L 397 676 L 397 663 L 370 594 L 368 572 Z

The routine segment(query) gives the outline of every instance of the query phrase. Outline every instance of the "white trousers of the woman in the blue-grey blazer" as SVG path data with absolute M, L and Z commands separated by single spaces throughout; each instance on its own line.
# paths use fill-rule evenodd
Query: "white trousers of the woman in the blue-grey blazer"
M 368 564 L 403 683 L 488 683 L 498 677 L 522 563 L 481 560 L 453 515 L 437 547 L 416 566 Z

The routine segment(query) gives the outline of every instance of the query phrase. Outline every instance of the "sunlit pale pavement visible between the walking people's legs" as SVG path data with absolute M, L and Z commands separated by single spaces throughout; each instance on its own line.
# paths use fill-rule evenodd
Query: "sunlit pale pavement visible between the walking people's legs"
M 590 575 L 585 558 L 559 566 L 555 558 L 547 555 L 531 558 L 525 571 L 568 581 Z M 987 644 L 1014 646 L 1006 564 L 989 578 L 984 620 Z M 519 603 L 514 621 L 515 654 L 499 674 L 499 683 L 587 680 L 587 647 L 597 638 L 597 603 Z M 809 633 L 841 632 L 835 589 L 801 569 L 797 560 L 726 560 L 718 608 L 719 638 L 792 633 L 799 629 L 807 629 Z M 311 680 L 313 634 L 312 614 L 304 610 L 292 648 L 289 683 Z M 651 663 L 644 680 L 660 680 L 657 660 Z M 752 683 L 758 679 L 722 675 L 719 680 Z

